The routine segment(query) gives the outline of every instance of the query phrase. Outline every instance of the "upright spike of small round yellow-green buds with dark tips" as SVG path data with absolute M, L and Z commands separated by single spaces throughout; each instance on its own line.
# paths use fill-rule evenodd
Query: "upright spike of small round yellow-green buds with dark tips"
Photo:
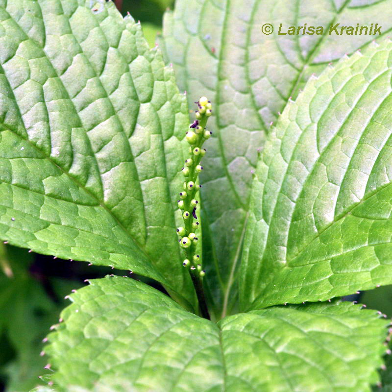
M 184 226 L 177 227 L 177 234 L 180 236 L 178 240 L 180 245 L 185 249 L 184 267 L 189 268 L 194 276 L 203 277 L 205 271 L 202 270 L 200 255 L 196 254 L 197 229 L 200 226 L 197 221 L 196 193 L 201 188 L 201 185 L 197 184 L 197 176 L 203 170 L 200 161 L 206 153 L 206 149 L 201 147 L 212 135 L 212 132 L 205 129 L 207 120 L 212 114 L 212 106 L 206 97 L 201 97 L 195 103 L 198 105 L 198 110 L 195 113 L 196 120 L 186 133 L 186 139 L 190 144 L 190 156 L 185 160 L 185 165 L 182 168 L 185 182 L 183 191 L 179 194 L 180 199 L 177 201 L 178 208 L 182 211 Z

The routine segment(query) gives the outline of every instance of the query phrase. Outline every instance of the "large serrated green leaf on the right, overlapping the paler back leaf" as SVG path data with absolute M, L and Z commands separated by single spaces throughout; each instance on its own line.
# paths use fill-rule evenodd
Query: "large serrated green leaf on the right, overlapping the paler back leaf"
M 392 44 L 309 80 L 257 168 L 242 308 L 392 283 Z

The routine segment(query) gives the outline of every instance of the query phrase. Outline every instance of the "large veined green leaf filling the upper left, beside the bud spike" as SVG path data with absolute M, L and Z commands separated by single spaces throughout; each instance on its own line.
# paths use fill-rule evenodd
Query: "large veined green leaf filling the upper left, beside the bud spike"
M 112 2 L 0 1 L 1 239 L 134 270 L 192 309 L 173 229 L 188 121 Z

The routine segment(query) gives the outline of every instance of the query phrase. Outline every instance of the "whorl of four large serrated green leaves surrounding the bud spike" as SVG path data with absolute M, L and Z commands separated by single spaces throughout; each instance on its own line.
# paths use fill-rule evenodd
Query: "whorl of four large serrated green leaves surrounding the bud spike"
M 160 40 L 171 67 L 111 2 L 0 0 L 0 239 L 172 297 L 116 276 L 71 294 L 36 391 L 370 391 L 389 321 L 331 299 L 392 284 L 392 43 L 260 23 L 377 16 L 386 32 L 389 5 L 178 0 Z M 174 72 L 188 103 L 214 104 L 212 321 L 174 229 L 190 123 Z

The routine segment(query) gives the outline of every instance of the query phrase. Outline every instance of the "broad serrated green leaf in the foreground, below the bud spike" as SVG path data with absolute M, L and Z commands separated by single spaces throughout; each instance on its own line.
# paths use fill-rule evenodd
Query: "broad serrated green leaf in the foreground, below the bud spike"
M 90 283 L 49 335 L 60 391 L 357 392 L 378 380 L 388 321 L 359 305 L 274 307 L 217 325 L 129 278 Z

